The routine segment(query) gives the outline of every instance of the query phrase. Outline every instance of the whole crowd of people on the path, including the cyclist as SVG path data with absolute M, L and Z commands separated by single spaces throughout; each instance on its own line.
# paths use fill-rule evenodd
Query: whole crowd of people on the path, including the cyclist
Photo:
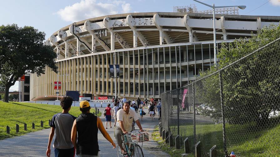
M 55 157 L 72 157 L 75 153 L 78 157 L 99 157 L 98 130 L 113 145 L 113 148 L 115 148 L 115 143 L 106 131 L 108 124 L 112 128 L 112 117 L 115 120 L 116 142 L 121 149 L 121 153 L 127 155 L 127 152 L 122 147 L 123 134 L 133 131 L 133 123 L 136 123 L 139 130 L 143 131 L 138 113 L 140 114 L 141 121 L 143 121 L 143 116 L 146 115 L 144 109 L 148 109 L 151 121 L 153 121 L 156 114 L 158 114 L 158 120 L 161 118 L 160 100 L 155 101 L 151 98 L 149 102 L 147 98 L 143 101 L 140 98 L 136 101 L 131 101 L 130 99 L 127 101 L 125 97 L 121 99 L 116 98 L 114 99 L 113 108 L 108 104 L 104 109 L 103 114 L 106 119 L 104 127 L 101 119 L 93 113 L 90 113 L 91 107 L 86 100 L 80 102 L 81 114 L 78 118 L 69 114 L 72 102 L 73 99 L 71 97 L 63 97 L 60 100 L 60 105 L 63 109 L 62 112 L 55 114 L 51 120 L 51 131 L 46 151 L 48 157 L 51 154 L 50 146 L 54 134 L 56 134 L 53 144 Z

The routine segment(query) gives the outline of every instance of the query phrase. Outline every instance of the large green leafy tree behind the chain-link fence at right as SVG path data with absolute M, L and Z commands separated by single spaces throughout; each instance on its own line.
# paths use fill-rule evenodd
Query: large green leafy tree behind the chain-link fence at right
M 218 68 L 212 68 L 211 72 L 201 74 L 206 76 L 228 64 L 250 54 L 269 42 L 280 37 L 280 25 L 270 25 L 262 28 L 252 37 L 240 39 L 231 43 L 222 43 L 217 57 L 220 59 Z M 231 124 L 244 124 L 256 122 L 264 125 L 268 122 L 270 114 L 280 110 L 280 42 L 267 46 L 261 51 L 237 62 L 222 70 L 223 94 L 225 104 L 226 121 Z M 203 82 L 204 91 L 210 100 L 212 95 L 217 96 L 219 88 L 213 90 L 212 81 L 219 82 L 219 75 L 211 76 Z M 209 80 L 209 81 L 207 81 Z M 215 102 L 210 102 L 215 104 Z M 220 110 L 217 103 L 213 106 Z M 208 114 L 209 115 L 209 114 Z M 218 120 L 218 117 L 210 116 Z

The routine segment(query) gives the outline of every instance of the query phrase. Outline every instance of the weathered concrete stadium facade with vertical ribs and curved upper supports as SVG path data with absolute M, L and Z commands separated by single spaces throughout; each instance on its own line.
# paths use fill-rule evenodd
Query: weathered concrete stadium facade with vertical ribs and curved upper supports
M 249 38 L 263 26 L 278 25 L 280 17 L 216 15 L 216 40 Z M 128 98 L 159 98 L 195 80 L 199 71 L 214 63 L 213 18 L 208 14 L 147 12 L 96 17 L 73 23 L 55 32 L 46 44 L 57 53 L 59 72 L 30 74 L 30 100 L 80 94 Z M 113 42 L 112 42 L 113 41 Z M 109 77 L 109 64 L 120 65 L 117 90 Z

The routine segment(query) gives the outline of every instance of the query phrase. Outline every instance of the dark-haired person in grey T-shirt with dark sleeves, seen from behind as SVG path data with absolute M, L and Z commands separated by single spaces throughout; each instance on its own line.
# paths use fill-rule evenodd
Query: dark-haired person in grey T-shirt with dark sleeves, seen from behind
M 60 99 L 62 112 L 53 115 L 50 123 L 51 131 L 49 135 L 46 155 L 51 156 L 51 143 L 55 132 L 53 143 L 55 157 L 73 157 L 75 155 L 74 145 L 71 142 L 71 129 L 76 117 L 69 114 L 73 102 L 72 97 L 63 97 Z

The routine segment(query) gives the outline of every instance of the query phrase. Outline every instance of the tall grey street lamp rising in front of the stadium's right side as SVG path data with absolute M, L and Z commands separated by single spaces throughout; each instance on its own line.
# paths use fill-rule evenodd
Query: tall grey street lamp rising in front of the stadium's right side
M 215 8 L 224 8 L 224 7 L 238 7 L 239 9 L 245 9 L 246 6 L 215 6 L 215 4 L 213 3 L 213 6 L 209 5 L 209 4 L 206 4 L 206 3 L 203 3 L 203 2 L 200 2 L 200 1 L 197 1 L 197 0 L 194 0 L 196 2 L 199 2 L 203 5 L 206 5 L 208 7 L 212 7 L 213 8 L 213 34 L 214 34 L 214 65 L 216 66 L 217 65 L 217 53 L 216 53 L 216 28 L 215 28 Z

